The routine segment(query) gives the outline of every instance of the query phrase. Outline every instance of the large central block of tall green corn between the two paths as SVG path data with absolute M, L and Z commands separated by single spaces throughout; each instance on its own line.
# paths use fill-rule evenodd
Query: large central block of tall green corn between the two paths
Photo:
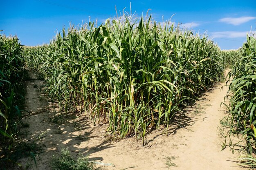
M 95 124 L 108 123 L 113 135 L 136 139 L 148 128 L 167 129 L 224 69 L 219 47 L 206 36 L 150 17 L 63 29 L 49 45 L 25 48 L 25 58 L 60 108 L 80 110 Z

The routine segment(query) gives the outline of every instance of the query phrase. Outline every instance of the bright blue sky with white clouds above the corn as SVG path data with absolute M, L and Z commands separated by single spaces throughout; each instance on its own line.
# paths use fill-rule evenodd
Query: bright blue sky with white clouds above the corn
M 148 9 L 159 22 L 171 20 L 195 32 L 206 32 L 221 49 L 238 49 L 251 30 L 256 33 L 255 0 L 1 0 L 0 30 L 18 35 L 21 44 L 35 46 L 49 43 L 72 24 L 90 20 L 103 22 L 115 17 L 115 6 L 141 16 Z

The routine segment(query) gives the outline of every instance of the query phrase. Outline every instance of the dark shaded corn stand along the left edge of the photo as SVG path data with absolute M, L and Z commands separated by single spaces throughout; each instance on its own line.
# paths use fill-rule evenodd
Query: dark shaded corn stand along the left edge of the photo
M 25 60 L 18 38 L 0 35 L 0 163 L 20 164 L 15 158 L 18 144 L 18 127 L 22 125 L 22 108 L 25 103 Z M 22 153 L 24 154 L 24 153 Z

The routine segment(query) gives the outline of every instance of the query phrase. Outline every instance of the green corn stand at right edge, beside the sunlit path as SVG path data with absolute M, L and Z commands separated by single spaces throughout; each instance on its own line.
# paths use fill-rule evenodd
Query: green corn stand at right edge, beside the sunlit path
M 240 59 L 229 72 L 233 80 L 229 85 L 231 97 L 229 121 L 230 133 L 243 135 L 247 151 L 251 154 L 255 147 L 254 126 L 256 124 L 256 38 L 247 37 L 240 49 Z

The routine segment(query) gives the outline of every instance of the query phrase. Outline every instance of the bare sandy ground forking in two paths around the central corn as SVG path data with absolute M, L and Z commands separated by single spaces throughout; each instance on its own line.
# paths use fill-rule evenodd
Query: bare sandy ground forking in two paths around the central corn
M 33 78 L 36 78 L 33 75 Z M 29 169 L 51 170 L 53 154 L 59 154 L 61 148 L 68 147 L 74 155 L 80 151 L 83 155 L 102 163 L 106 170 L 239 170 L 234 162 L 237 153 L 232 154 L 227 147 L 221 151 L 223 138 L 219 134 L 220 119 L 225 117 L 225 109 L 220 106 L 227 87 L 220 83 L 203 94 L 201 101 L 188 108 L 173 120 L 167 135 L 163 128 L 153 130 L 146 135 L 147 144 L 135 142 L 134 138 L 111 141 L 106 137 L 106 125 L 94 126 L 93 122 L 80 117 L 57 117 L 49 110 L 47 102 L 36 89 L 43 82 L 27 82 L 27 106 L 31 112 L 27 120 L 27 141 L 44 144 L 45 152 L 37 158 L 37 167 L 31 163 Z M 51 119 L 50 119 L 51 117 Z M 41 135 L 40 135 L 41 134 Z M 38 136 L 40 135 L 40 140 Z M 26 159 L 22 159 L 26 166 Z

